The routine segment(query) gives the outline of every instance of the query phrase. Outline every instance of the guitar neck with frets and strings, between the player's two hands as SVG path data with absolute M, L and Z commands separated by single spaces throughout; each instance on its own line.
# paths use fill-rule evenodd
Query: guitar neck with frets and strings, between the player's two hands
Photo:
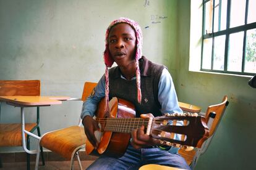
M 145 128 L 148 126 L 148 119 L 142 118 L 98 118 L 97 121 L 101 124 L 102 131 L 121 133 L 131 133 L 142 125 Z

